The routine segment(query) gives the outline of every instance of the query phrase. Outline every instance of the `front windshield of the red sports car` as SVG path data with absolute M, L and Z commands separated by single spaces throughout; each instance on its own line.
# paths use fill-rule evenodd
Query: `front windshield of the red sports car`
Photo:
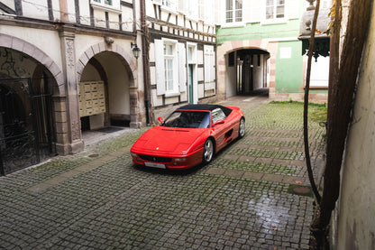
M 210 113 L 207 111 L 175 111 L 162 126 L 183 128 L 207 128 L 210 126 Z

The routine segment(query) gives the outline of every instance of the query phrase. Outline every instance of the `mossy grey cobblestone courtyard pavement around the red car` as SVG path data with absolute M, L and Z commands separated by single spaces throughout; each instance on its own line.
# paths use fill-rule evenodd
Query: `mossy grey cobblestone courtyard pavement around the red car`
M 303 106 L 223 104 L 242 107 L 246 135 L 191 171 L 135 166 L 142 128 L 1 177 L 0 248 L 309 249 L 313 199 L 294 191 L 309 185 Z M 325 132 L 309 130 L 316 160 Z

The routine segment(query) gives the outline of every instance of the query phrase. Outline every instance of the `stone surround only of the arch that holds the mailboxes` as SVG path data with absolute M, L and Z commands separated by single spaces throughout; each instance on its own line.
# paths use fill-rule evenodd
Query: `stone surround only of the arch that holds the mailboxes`
M 141 121 L 139 120 L 139 106 L 138 106 L 138 86 L 137 86 L 137 75 L 136 66 L 133 62 L 131 54 L 127 53 L 117 44 L 107 45 L 105 42 L 97 43 L 90 46 L 78 59 L 77 62 L 77 78 L 78 82 L 82 77 L 82 73 L 87 66 L 89 60 L 93 59 L 97 54 L 102 52 L 114 52 L 121 58 L 123 68 L 126 69 L 129 75 L 129 92 L 130 92 L 130 126 L 140 127 Z

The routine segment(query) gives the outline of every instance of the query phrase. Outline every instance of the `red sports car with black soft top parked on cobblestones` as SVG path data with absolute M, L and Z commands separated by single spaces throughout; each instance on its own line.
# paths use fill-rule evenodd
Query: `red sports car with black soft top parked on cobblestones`
M 215 153 L 245 134 L 245 116 L 236 106 L 187 105 L 133 144 L 133 162 L 161 169 L 188 169 L 211 162 Z

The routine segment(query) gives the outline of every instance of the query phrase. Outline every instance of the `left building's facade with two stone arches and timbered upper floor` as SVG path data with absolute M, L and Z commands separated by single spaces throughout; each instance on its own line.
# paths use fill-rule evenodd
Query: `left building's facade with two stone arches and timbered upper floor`
M 2 174 L 82 151 L 82 130 L 142 124 L 136 18 L 132 0 L 1 1 Z

